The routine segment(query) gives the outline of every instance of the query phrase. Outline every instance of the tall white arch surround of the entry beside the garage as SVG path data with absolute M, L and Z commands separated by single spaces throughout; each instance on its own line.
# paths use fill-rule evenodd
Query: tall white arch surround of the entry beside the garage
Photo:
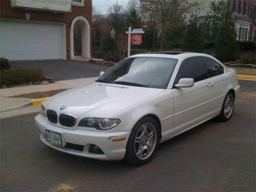
M 74 25 L 78 20 L 82 22 L 82 57 L 90 58 L 90 24 L 86 18 L 78 16 L 70 26 L 70 59 L 74 59 Z

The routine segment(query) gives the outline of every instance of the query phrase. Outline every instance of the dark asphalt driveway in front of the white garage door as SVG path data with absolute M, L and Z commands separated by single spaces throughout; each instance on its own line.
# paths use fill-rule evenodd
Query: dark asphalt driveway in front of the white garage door
M 100 71 L 110 67 L 79 60 L 42 60 L 10 62 L 12 68 L 39 68 L 44 76 L 54 77 L 56 81 L 97 77 Z

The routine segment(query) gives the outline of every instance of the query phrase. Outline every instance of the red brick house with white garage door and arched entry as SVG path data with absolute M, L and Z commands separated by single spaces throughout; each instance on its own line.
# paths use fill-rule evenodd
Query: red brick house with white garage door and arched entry
M 92 54 L 92 0 L 1 0 L 0 56 L 74 59 L 74 24 L 82 21 L 82 57 Z

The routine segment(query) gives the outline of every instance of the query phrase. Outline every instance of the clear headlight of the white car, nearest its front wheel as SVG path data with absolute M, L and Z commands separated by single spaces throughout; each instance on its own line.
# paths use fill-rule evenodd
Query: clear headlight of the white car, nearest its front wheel
M 119 119 L 106 119 L 106 118 L 84 118 L 82 119 L 78 126 L 80 127 L 93 127 L 98 130 L 108 130 L 117 126 L 121 121 Z

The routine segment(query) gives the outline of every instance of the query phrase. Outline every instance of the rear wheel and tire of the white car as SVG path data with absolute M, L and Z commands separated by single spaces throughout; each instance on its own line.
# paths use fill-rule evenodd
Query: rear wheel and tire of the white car
M 224 98 L 222 108 L 218 117 L 221 121 L 226 122 L 230 120 L 233 114 L 233 111 L 234 111 L 234 94 L 231 91 L 229 91 Z

